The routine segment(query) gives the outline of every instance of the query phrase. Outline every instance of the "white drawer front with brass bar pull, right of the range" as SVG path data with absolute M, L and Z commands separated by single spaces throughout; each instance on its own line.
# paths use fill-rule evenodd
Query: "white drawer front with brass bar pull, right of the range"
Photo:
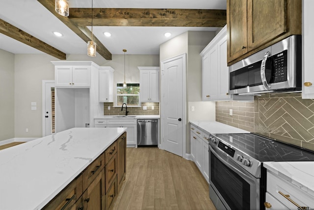
M 287 180 L 284 180 L 267 171 L 267 192 L 273 195 L 289 209 L 297 209 L 297 207 L 281 195 L 279 191 L 285 195 L 289 195 L 288 198 L 301 207 L 309 207 L 310 209 L 314 208 L 314 197 L 294 186 L 291 182 L 288 182 Z

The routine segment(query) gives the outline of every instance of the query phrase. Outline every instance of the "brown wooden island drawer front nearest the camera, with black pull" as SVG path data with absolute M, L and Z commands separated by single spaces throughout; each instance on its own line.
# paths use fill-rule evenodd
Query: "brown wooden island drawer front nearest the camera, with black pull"
M 57 194 L 42 210 L 71 210 L 82 193 L 82 176 L 78 176 Z

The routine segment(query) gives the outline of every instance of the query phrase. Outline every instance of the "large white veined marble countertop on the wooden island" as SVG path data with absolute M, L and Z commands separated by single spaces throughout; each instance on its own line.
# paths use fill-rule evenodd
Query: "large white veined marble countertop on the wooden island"
M 72 128 L 0 150 L 0 210 L 43 208 L 126 128 Z

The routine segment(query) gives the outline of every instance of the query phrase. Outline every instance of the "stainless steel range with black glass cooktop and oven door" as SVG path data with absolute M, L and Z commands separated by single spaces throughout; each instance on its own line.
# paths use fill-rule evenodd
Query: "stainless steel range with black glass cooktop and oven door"
M 253 133 L 209 136 L 209 197 L 217 210 L 262 210 L 267 161 L 314 161 L 314 153 Z

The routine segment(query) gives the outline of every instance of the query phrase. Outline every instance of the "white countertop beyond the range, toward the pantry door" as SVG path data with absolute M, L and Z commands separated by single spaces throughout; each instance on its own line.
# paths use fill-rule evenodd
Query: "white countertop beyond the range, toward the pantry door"
M 250 133 L 217 121 L 190 121 L 191 124 L 209 132 L 209 133 Z

